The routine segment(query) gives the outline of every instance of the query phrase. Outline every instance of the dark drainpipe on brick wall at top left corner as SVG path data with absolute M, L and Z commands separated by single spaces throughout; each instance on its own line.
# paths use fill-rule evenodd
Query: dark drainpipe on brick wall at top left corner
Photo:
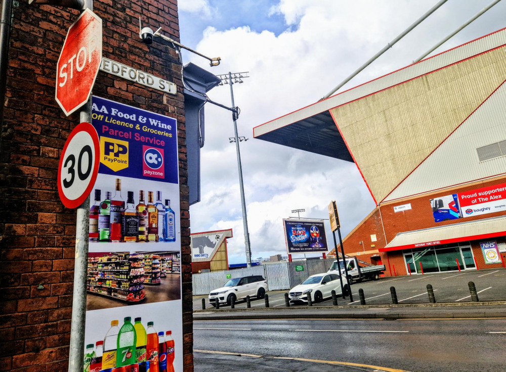
M 7 85 L 7 67 L 9 65 L 9 42 L 11 39 L 12 0 L 2 0 L 0 14 L 0 132 L 4 127 L 5 91 Z M 0 149 L 2 136 L 0 135 Z

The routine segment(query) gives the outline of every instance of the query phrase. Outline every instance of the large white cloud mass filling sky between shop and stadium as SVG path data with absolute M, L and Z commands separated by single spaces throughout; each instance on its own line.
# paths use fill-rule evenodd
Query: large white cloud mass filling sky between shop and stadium
M 448 2 L 345 89 L 410 64 L 487 1 Z M 286 30 L 278 35 L 252 31 L 254 27 L 248 25 L 205 29 L 196 49 L 222 58 L 219 67 L 207 69 L 215 74 L 249 71 L 251 76 L 233 88 L 241 109 L 239 135 L 250 138 L 240 143 L 240 150 L 252 257 L 285 252 L 281 220 L 292 209 L 305 208 L 304 217 L 328 218 L 326 206 L 335 199 L 346 235 L 374 208 L 355 164 L 255 140 L 252 128 L 318 101 L 431 6 L 423 0 L 281 0 L 271 9 L 286 22 Z M 501 28 L 497 13 L 506 4 L 496 7 L 441 50 Z M 206 68 L 201 58 L 191 60 Z M 230 105 L 229 85 L 208 95 Z M 233 135 L 231 113 L 207 104 L 202 201 L 191 207 L 190 218 L 192 232 L 232 227 L 230 261 L 244 262 L 237 158 L 235 145 L 228 140 Z M 330 232 L 327 236 L 331 242 Z

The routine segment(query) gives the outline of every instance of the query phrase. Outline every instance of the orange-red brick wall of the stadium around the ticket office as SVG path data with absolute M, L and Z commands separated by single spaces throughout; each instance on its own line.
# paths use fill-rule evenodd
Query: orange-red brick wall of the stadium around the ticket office
M 481 180 L 477 182 L 473 182 L 467 184 L 463 187 L 457 187 L 452 189 L 446 189 L 444 191 L 438 191 L 435 193 L 425 194 L 423 196 L 405 198 L 402 200 L 398 200 L 394 203 L 382 204 L 381 215 L 378 208 L 375 208 L 369 216 L 367 216 L 358 226 L 356 226 L 350 234 L 348 234 L 343 239 L 343 247 L 346 254 L 350 254 L 356 256 L 358 259 L 372 262 L 371 256 L 373 254 L 379 254 L 382 258 L 383 264 L 387 267 L 387 275 L 390 275 L 390 271 L 392 275 L 394 275 L 393 266 L 395 266 L 395 272 L 399 275 L 406 275 L 406 268 L 404 264 L 404 258 L 402 253 L 389 252 L 388 257 L 385 252 L 373 252 L 378 250 L 378 248 L 383 248 L 386 246 L 387 242 L 392 241 L 395 238 L 398 232 L 403 231 L 411 231 L 418 230 L 422 228 L 430 228 L 430 227 L 438 227 L 449 225 L 458 222 L 468 222 L 473 220 L 478 220 L 482 218 L 490 218 L 501 215 L 506 215 L 505 212 L 496 212 L 490 213 L 486 215 L 474 216 L 474 217 L 466 217 L 458 220 L 449 220 L 442 222 L 435 222 L 432 214 L 432 208 L 430 200 L 439 197 L 450 195 L 454 193 L 461 193 L 469 190 L 475 190 L 484 188 L 487 186 L 499 184 L 506 182 L 506 177 L 496 177 L 493 179 Z M 411 204 L 410 210 L 405 210 L 401 212 L 394 212 L 394 206 L 403 205 L 403 204 Z M 383 224 L 382 224 L 383 218 Z M 375 234 L 377 238 L 377 242 L 371 241 L 371 235 Z M 386 239 L 385 239 L 386 236 Z M 501 242 L 501 238 L 491 239 L 497 240 Z M 359 242 L 362 242 L 360 245 Z M 372 247 L 374 245 L 374 247 Z M 481 248 L 479 242 L 472 243 L 473 253 L 475 258 L 477 259 L 478 267 L 502 267 L 502 264 L 497 265 L 485 265 L 483 255 L 481 253 Z M 340 249 L 340 248 L 339 248 Z M 365 253 L 362 253 L 365 251 Z M 333 252 L 332 252 L 333 254 Z M 388 261 L 390 261 L 391 268 L 388 267 Z

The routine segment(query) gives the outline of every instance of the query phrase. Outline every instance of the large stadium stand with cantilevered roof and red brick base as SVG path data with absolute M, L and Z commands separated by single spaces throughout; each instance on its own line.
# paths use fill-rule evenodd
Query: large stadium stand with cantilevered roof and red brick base
M 254 136 L 357 165 L 376 208 L 343 240 L 346 254 L 385 264 L 387 275 L 503 267 L 505 46 L 502 29 Z

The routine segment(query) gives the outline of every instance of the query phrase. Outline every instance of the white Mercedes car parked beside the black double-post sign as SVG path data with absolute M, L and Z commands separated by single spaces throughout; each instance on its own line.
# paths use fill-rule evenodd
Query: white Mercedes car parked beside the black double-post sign
M 343 276 L 343 289 L 345 295 L 348 295 L 348 281 Z M 332 296 L 332 290 L 336 295 L 341 295 L 341 281 L 338 274 L 315 274 L 308 277 L 302 284 L 293 287 L 288 297 L 291 303 L 308 302 L 308 295 L 314 303 L 323 301 L 323 299 Z

